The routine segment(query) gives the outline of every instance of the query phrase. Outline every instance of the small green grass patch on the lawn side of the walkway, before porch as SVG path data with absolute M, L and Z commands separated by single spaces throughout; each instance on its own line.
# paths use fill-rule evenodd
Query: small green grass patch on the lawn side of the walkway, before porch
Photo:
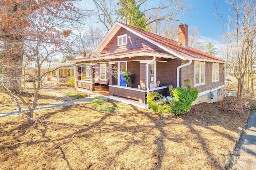
M 113 113 L 113 111 L 117 108 L 116 104 L 114 104 L 113 102 L 109 102 L 103 99 L 92 100 L 92 106 L 106 113 Z

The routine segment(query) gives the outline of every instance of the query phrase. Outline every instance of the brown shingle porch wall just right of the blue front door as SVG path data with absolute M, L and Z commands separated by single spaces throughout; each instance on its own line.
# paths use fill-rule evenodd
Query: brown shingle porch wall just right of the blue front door
M 127 62 L 127 70 L 128 72 L 131 72 L 132 78 L 129 87 L 138 88 L 138 85 L 140 85 L 140 62 Z

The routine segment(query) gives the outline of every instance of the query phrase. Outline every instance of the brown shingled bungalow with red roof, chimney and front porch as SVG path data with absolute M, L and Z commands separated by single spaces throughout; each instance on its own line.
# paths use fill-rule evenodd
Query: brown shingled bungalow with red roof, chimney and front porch
M 147 107 L 147 92 L 168 96 L 170 84 L 184 88 L 186 79 L 199 92 L 194 104 L 214 102 L 224 88 L 224 64 L 228 63 L 188 47 L 186 23 L 178 26 L 177 42 L 118 21 L 91 56 L 73 61 L 77 89 L 94 91 L 98 79 L 109 77 L 109 98 L 140 107 Z M 81 80 L 81 64 L 90 80 Z M 131 73 L 129 86 L 122 78 L 125 71 Z M 160 82 L 158 87 L 156 82 Z

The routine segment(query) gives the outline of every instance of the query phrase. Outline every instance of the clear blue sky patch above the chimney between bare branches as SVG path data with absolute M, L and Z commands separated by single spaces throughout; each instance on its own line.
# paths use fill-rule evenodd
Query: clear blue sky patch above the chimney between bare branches
M 195 9 L 190 12 L 190 16 L 182 17 L 180 23 L 196 26 L 201 36 L 219 41 L 218 37 L 222 35 L 222 29 L 220 22 L 217 21 L 214 2 L 215 0 L 190 0 L 189 4 Z M 221 12 L 228 11 L 228 5 L 224 0 L 218 0 L 217 4 Z

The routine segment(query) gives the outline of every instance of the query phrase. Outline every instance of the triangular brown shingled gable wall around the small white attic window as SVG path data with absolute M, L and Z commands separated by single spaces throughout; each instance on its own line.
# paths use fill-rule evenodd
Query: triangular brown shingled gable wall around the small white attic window
M 127 43 L 126 43 L 126 45 L 118 46 L 118 37 L 121 35 L 126 35 Z M 112 39 L 108 42 L 108 44 L 106 45 L 106 47 L 102 50 L 102 52 L 100 54 L 121 52 L 121 51 L 127 51 L 127 50 L 135 50 L 135 49 L 148 49 L 148 50 L 154 50 L 154 51 L 158 51 L 160 53 L 168 54 L 168 53 L 166 53 L 166 51 L 164 51 L 160 47 L 157 47 L 153 43 L 146 41 L 142 37 L 135 35 L 134 33 L 128 31 L 127 29 L 125 29 L 123 27 L 120 27 L 120 29 L 112 37 Z

